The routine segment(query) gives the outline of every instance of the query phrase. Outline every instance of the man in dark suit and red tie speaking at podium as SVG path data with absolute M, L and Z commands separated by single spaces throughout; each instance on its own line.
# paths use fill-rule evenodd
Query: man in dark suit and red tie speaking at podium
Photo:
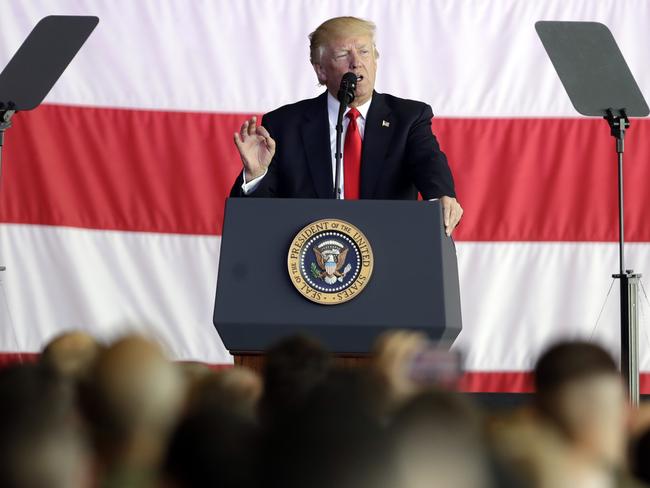
M 344 117 L 344 197 L 415 199 L 419 192 L 439 198 L 451 234 L 463 210 L 431 133 L 431 107 L 374 91 L 374 31 L 371 22 L 337 17 L 310 35 L 312 66 L 327 91 L 269 112 L 261 125 L 255 117 L 244 122 L 235 133 L 244 170 L 231 196 L 334 196 L 336 94 L 343 75 L 353 72 L 356 96 Z

